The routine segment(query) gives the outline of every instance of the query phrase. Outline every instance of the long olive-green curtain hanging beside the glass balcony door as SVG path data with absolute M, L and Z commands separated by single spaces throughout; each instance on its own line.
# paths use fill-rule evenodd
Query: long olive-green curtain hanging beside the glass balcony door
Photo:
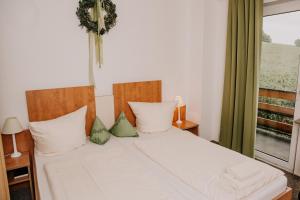
M 229 0 L 220 144 L 254 155 L 263 0 Z

